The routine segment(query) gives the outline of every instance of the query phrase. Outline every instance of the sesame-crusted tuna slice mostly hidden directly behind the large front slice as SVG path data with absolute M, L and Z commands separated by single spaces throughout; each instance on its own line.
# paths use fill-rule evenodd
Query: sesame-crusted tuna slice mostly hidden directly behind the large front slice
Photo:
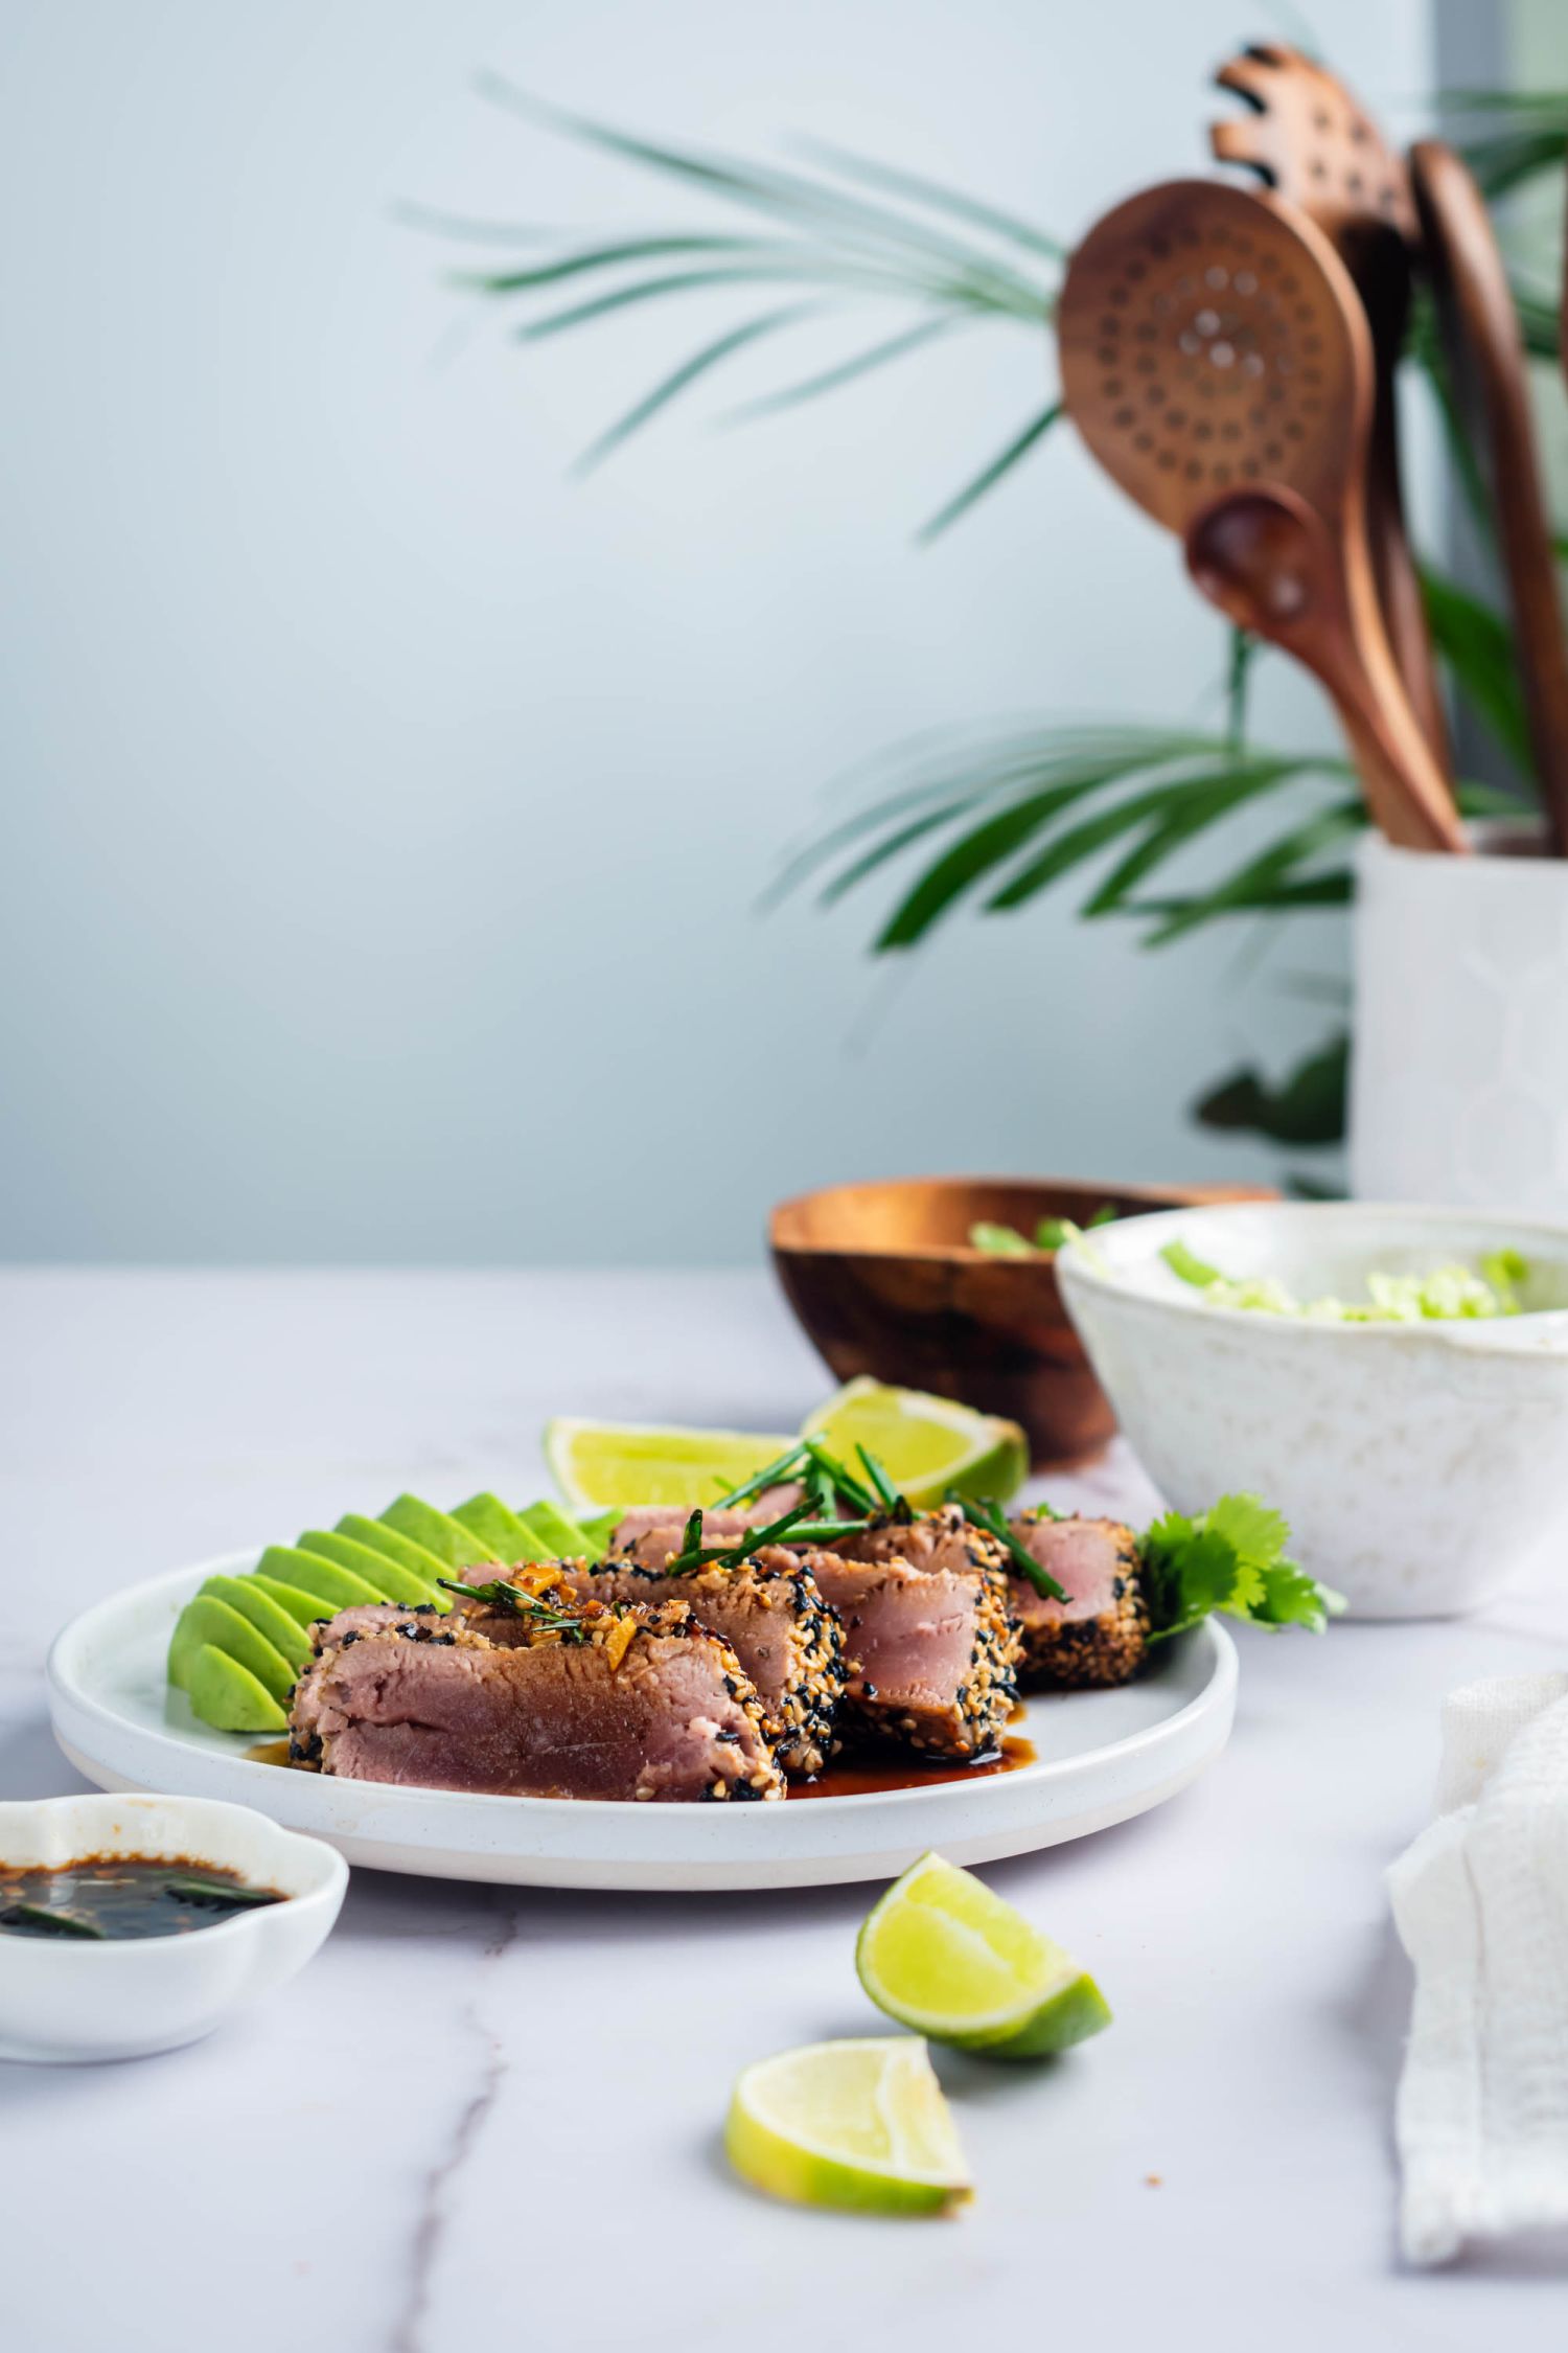
M 635 1558 L 609 1560 L 592 1572 L 567 1562 L 567 1581 L 602 1602 L 684 1600 L 703 1626 L 731 1645 L 757 1685 L 785 1772 L 820 1772 L 837 1751 L 844 1631 L 811 1569 L 783 1544 L 769 1544 L 733 1567 L 710 1562 L 684 1577 L 665 1577 Z

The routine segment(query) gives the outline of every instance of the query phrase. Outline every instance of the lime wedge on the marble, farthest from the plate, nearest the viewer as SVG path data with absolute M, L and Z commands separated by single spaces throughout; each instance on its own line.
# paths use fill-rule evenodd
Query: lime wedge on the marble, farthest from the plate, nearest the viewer
M 947 2214 L 971 2193 L 926 2045 L 910 2035 L 809 2042 L 748 2066 L 724 2148 L 752 2188 L 797 2205 Z

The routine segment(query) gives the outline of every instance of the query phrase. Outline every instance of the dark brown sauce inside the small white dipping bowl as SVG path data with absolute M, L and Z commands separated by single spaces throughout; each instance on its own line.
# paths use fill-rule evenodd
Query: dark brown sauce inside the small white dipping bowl
M 284 1901 L 275 1887 L 252 1887 L 237 1871 L 188 1854 L 85 1854 L 54 1868 L 0 1864 L 0 1937 L 54 1944 L 188 1937 Z

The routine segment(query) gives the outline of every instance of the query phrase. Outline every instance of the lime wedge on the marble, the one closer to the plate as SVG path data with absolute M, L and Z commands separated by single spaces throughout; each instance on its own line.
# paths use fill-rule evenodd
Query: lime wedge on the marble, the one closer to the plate
M 856 1939 L 877 2009 L 987 2059 L 1044 2059 L 1110 2026 L 1093 1977 L 973 1871 L 922 1854 Z

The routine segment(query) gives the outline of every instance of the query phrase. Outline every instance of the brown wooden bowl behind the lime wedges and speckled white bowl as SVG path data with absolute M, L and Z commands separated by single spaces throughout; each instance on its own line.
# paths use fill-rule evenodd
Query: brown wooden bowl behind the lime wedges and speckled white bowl
M 832 1372 L 959 1398 L 1020 1421 L 1037 1466 L 1098 1454 L 1117 1428 L 1056 1287 L 1056 1254 L 973 1249 L 987 1221 L 1032 1235 L 1215 1200 L 1274 1200 L 1267 1186 L 1077 1184 L 1056 1176 L 896 1176 L 785 1200 L 769 1219 L 773 1266 Z

